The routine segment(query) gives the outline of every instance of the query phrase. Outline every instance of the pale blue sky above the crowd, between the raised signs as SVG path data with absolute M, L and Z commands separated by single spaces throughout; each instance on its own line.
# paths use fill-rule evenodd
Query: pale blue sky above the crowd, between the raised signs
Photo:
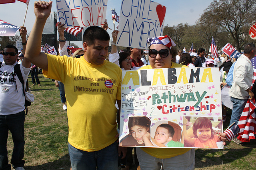
M 28 33 L 31 31 L 35 16 L 34 16 L 34 2 L 36 0 L 30 0 L 28 6 L 28 12 L 26 16 L 25 26 Z M 203 10 L 206 9 L 213 0 L 155 0 L 159 4 L 166 6 L 166 17 L 164 25 L 169 24 L 178 25 L 179 23 L 188 23 L 193 25 L 200 17 Z M 115 8 L 117 14 L 120 14 L 120 6 L 122 0 L 108 0 L 106 19 L 108 25 L 113 30 L 113 24 L 111 20 L 111 8 Z M 56 10 L 56 0 L 53 0 L 52 11 Z M 24 21 L 26 12 L 26 4 L 16 0 L 16 3 L 0 4 L 0 20 L 4 20 L 8 23 L 12 23 L 16 26 L 21 26 Z M 109 29 L 108 29 L 109 30 Z M 111 33 L 111 31 L 108 31 Z

